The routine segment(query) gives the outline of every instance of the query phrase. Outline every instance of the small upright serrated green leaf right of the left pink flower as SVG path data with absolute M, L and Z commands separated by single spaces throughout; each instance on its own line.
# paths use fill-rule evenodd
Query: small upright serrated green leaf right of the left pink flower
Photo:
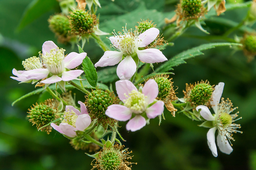
M 87 56 L 85 57 L 85 59 L 83 60 L 82 66 L 83 66 L 82 68 L 85 73 L 85 77 L 86 77 L 87 81 L 89 82 L 89 84 L 92 87 L 97 88 L 98 75 L 97 75 L 96 69 L 94 67 L 94 64 L 89 59 L 89 57 L 87 57 Z

